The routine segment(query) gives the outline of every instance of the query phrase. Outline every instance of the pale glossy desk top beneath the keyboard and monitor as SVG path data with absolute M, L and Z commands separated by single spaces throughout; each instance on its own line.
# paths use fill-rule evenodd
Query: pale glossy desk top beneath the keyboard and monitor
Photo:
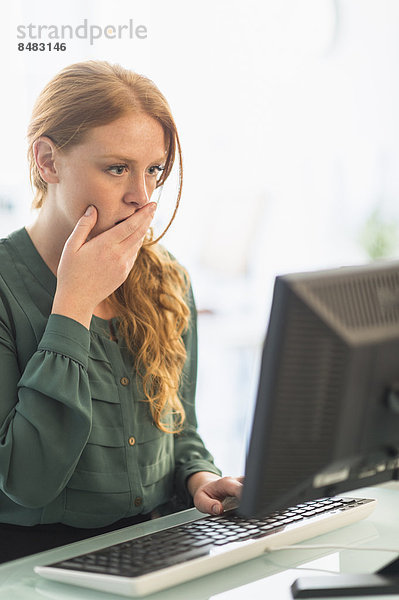
M 366 520 L 303 543 L 399 548 L 399 484 L 365 488 L 346 495 L 377 498 L 379 504 Z M 0 600 L 121 600 L 123 596 L 47 581 L 36 575 L 33 567 L 182 523 L 189 520 L 193 512 L 195 509 L 3 564 L 0 566 Z M 146 598 L 292 600 L 290 585 L 297 577 L 321 575 L 320 569 L 343 573 L 373 572 L 395 557 L 394 553 L 375 551 L 280 550 Z

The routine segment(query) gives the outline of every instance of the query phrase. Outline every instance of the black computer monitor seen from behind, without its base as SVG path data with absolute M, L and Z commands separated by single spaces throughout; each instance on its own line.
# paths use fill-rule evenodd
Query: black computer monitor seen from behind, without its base
M 399 262 L 277 277 L 240 512 L 398 478 Z

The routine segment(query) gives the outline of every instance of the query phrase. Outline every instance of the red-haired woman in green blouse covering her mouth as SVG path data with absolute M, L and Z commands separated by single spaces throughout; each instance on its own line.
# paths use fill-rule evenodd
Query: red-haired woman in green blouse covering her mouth
M 3 561 L 192 501 L 219 514 L 241 488 L 196 431 L 195 305 L 149 229 L 176 153 L 181 194 L 166 100 L 118 65 L 71 65 L 28 140 L 40 210 L 0 243 Z

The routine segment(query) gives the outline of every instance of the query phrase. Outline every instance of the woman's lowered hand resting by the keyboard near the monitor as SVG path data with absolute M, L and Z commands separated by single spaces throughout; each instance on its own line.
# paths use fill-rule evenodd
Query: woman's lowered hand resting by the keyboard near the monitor
M 188 479 L 188 489 L 198 510 L 211 515 L 220 515 L 228 500 L 241 497 L 244 477 L 218 477 L 201 471 Z

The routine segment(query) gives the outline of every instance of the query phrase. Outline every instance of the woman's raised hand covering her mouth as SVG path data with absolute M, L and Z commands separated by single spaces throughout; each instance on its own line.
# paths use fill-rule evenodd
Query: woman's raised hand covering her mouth
M 149 202 L 122 223 L 87 237 L 97 221 L 88 207 L 65 242 L 57 269 L 52 313 L 65 315 L 89 329 L 93 311 L 126 280 L 156 210 Z

